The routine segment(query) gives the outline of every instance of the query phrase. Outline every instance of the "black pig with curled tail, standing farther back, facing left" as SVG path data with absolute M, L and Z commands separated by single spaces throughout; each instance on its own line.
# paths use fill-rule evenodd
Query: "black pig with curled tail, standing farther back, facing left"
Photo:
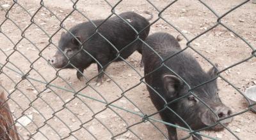
M 131 24 L 137 32 L 145 29 L 149 25 L 148 20 L 152 19 L 152 15 L 150 18 L 146 19 L 131 11 L 121 13 L 119 16 Z M 117 57 L 118 53 L 116 49 L 118 51 L 122 50 L 120 57 L 123 59 L 127 59 L 127 57 L 129 57 L 135 50 L 140 52 L 142 42 L 140 40 L 134 41 L 137 38 L 137 34 L 132 27 L 124 22 L 124 20 L 117 16 L 109 18 L 103 24 L 102 22 L 104 20 L 93 20 L 93 23 L 97 26 L 102 24 L 97 29 L 97 32 L 99 33 L 95 33 L 96 28 L 91 22 L 78 24 L 70 29 L 70 32 L 72 32 L 76 38 L 74 38 L 70 33 L 63 32 L 58 45 L 59 50 L 52 59 L 49 59 L 49 62 L 56 68 L 63 67 L 74 69 L 73 66 L 77 67 L 77 69 L 79 69 L 79 71 L 77 71 L 77 78 L 81 80 L 84 69 L 92 63 L 97 61 L 99 62 L 97 63 L 99 73 L 106 69 L 104 66 Z M 140 39 L 145 40 L 148 36 L 149 30 L 150 27 L 147 27 L 147 29 L 142 31 L 139 35 Z M 101 35 L 108 39 L 110 43 Z M 88 41 L 86 41 L 87 39 Z M 81 43 L 86 41 L 83 44 L 83 50 L 80 52 L 79 50 L 81 49 L 81 45 L 79 41 Z M 132 43 L 132 41 L 134 42 Z M 132 44 L 129 45 L 130 43 Z M 114 45 L 116 49 L 111 44 Z M 127 47 L 125 48 L 125 46 Z M 90 53 L 90 55 L 86 52 Z M 67 57 L 63 53 L 65 53 Z M 68 60 L 70 63 L 68 63 Z M 116 59 L 116 61 L 118 60 L 122 59 Z M 103 76 L 103 73 L 99 74 L 96 80 L 97 83 L 102 83 Z

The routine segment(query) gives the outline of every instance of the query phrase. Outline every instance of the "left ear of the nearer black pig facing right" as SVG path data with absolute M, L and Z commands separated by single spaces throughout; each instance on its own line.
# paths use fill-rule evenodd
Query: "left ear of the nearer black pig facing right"
M 178 88 L 183 85 L 182 80 L 174 75 L 164 75 L 163 85 L 166 92 L 168 92 L 168 97 L 175 97 L 178 93 Z

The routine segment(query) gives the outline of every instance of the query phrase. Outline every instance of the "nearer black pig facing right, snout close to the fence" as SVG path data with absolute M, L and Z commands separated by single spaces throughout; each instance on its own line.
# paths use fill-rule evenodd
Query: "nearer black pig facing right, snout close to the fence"
M 171 56 L 181 50 L 177 39 L 170 34 L 163 32 L 157 32 L 148 36 L 145 42 L 163 59 L 166 59 L 168 56 Z M 164 108 L 164 100 L 166 102 L 170 102 L 189 93 L 189 87 L 184 83 L 184 81 L 193 88 L 200 83 L 211 80 L 218 72 L 218 70 L 213 67 L 205 73 L 193 56 L 189 53 L 181 52 L 171 59 L 166 60 L 164 64 L 177 73 L 180 78 L 183 78 L 184 81 L 182 81 L 168 68 L 161 66 L 161 59 L 153 52 L 153 50 L 148 48 L 148 46 L 143 45 L 142 54 L 143 63 L 145 65 L 145 81 L 163 97 L 161 98 L 156 92 L 154 92 L 154 90 L 152 90 L 152 88 L 147 86 L 148 92 L 150 93 L 150 99 L 159 111 Z M 154 71 L 154 69 L 157 69 L 159 66 L 161 66 L 161 68 Z M 152 71 L 154 72 L 148 74 Z M 230 108 L 225 106 L 221 102 L 220 97 L 218 97 L 216 80 L 195 88 L 192 92 L 196 97 L 202 99 L 202 101 L 204 101 L 214 111 L 214 113 L 218 115 L 218 117 L 214 115 L 214 113 L 212 113 L 201 101 L 198 101 L 198 99 L 192 94 L 169 104 L 168 107 L 173 109 L 175 113 L 188 123 L 191 129 L 202 129 L 216 123 L 218 118 L 223 119 L 232 114 Z M 164 109 L 159 114 L 164 122 L 176 123 L 182 127 L 187 127 L 168 108 Z M 227 118 L 225 120 L 221 120 L 221 123 L 227 126 L 231 121 L 232 118 Z M 168 125 L 166 125 L 166 127 L 168 129 L 169 139 L 178 139 L 176 128 Z M 210 127 L 208 130 L 220 131 L 223 130 L 223 126 L 218 124 L 214 127 Z M 195 134 L 193 135 L 193 139 L 202 139 L 202 137 Z

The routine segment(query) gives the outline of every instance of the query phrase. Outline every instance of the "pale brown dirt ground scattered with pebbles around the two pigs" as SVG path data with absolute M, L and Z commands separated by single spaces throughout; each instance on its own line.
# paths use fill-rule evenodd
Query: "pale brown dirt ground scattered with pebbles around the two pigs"
M 112 6 L 118 3 L 118 1 L 113 0 L 108 2 Z M 159 10 L 163 10 L 170 3 L 170 1 L 165 0 L 152 0 L 151 2 Z M 204 2 L 218 15 L 223 15 L 243 1 L 205 0 Z M 5 10 L 10 8 L 13 2 L 10 0 L 0 1 L 2 6 L 0 8 L 0 66 L 6 64 L 3 67 L 3 73 L 0 74 L 0 80 L 1 87 L 10 94 L 8 103 L 15 120 L 22 118 L 22 116 L 30 118 L 25 117 L 28 123 L 24 126 L 16 123 L 21 139 L 29 139 L 29 136 L 31 139 L 40 140 L 111 139 L 118 134 L 121 135 L 115 138 L 119 140 L 139 139 L 139 137 L 140 139 L 166 139 L 163 136 L 163 134 L 167 136 L 163 123 L 154 121 L 152 123 L 140 123 L 142 118 L 139 115 L 150 115 L 156 112 L 145 84 L 140 83 L 140 78 L 143 76 L 143 71 L 140 68 L 140 53 L 135 52 L 126 62 L 111 64 L 106 73 L 113 80 L 107 80 L 103 85 L 97 86 L 95 79 L 93 79 L 89 83 L 90 86 L 84 87 L 86 81 L 77 80 L 75 70 L 65 69 L 56 73 L 56 69 L 49 66 L 46 61 L 56 52 L 57 49 L 54 45 L 58 45 L 61 31 L 64 31 L 61 29 L 56 33 L 60 28 L 60 21 L 54 15 L 62 21 L 73 10 L 72 2 L 68 0 L 44 0 L 41 3 L 44 5 L 42 7 L 39 0 L 23 0 L 18 1 L 18 3 L 13 5 L 8 15 L 5 15 L 3 8 Z M 91 20 L 106 18 L 111 14 L 111 6 L 106 1 L 80 0 L 76 5 L 77 10 Z M 157 10 L 147 1 L 126 0 L 121 1 L 115 7 L 116 13 L 135 11 L 143 15 L 145 10 L 154 15 L 151 22 L 157 19 Z M 31 20 L 28 12 L 31 16 L 37 13 Z M 69 29 L 73 25 L 88 21 L 81 13 L 74 11 L 63 22 L 64 27 Z M 188 39 L 193 39 L 212 27 L 218 19 L 200 1 L 189 0 L 177 1 L 167 8 L 162 15 L 167 22 L 178 27 Z M 256 4 L 248 2 L 221 18 L 221 23 L 243 36 L 255 49 L 255 19 Z M 17 26 L 25 31 L 21 32 Z M 159 31 L 168 32 L 173 36 L 179 34 L 161 19 L 151 26 L 150 34 Z M 51 39 L 49 39 L 50 37 Z M 186 43 L 186 39 L 180 42 L 183 48 L 186 47 Z M 232 64 L 252 55 L 252 49 L 246 43 L 221 25 L 196 38 L 191 46 L 211 62 L 219 64 L 220 69 L 232 66 Z M 191 49 L 188 51 L 198 59 L 205 70 L 210 68 L 209 63 L 204 58 Z M 256 85 L 255 66 L 256 59 L 254 57 L 221 73 L 221 76 L 244 92 L 246 88 Z M 31 79 L 22 80 L 19 73 L 26 74 L 28 71 L 30 71 L 28 77 Z M 96 65 L 93 64 L 88 67 L 84 73 L 86 78 L 94 78 L 97 75 Z M 49 82 L 51 82 L 50 86 L 45 90 L 45 83 Z M 218 85 L 221 100 L 230 106 L 234 113 L 244 111 L 248 107 L 243 95 L 227 82 L 219 79 Z M 76 94 L 74 97 L 74 92 L 79 92 L 79 95 Z M 124 97 L 122 97 L 123 92 L 125 92 Z M 113 106 L 106 108 L 104 102 L 113 102 Z M 121 109 L 115 108 L 115 106 Z M 152 118 L 161 120 L 159 115 L 154 115 Z M 252 111 L 237 115 L 233 122 L 228 125 L 228 129 L 240 139 L 255 139 L 256 115 Z M 124 134 L 122 134 L 123 132 Z M 202 133 L 218 139 L 236 139 L 228 130 Z M 179 139 L 186 136 L 188 136 L 186 132 L 179 130 Z M 204 139 L 207 138 L 204 137 Z

